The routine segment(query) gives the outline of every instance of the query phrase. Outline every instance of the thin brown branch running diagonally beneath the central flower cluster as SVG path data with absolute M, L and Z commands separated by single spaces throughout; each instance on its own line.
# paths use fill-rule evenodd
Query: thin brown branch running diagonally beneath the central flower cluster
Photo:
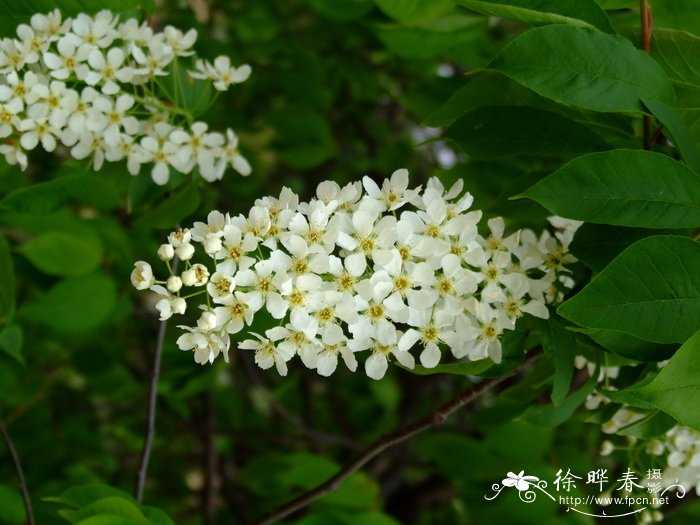
M 386 449 L 401 443 L 407 439 L 412 438 L 416 434 L 429 429 L 438 423 L 444 422 L 450 415 L 460 408 L 472 403 L 474 400 L 478 399 L 482 394 L 491 390 L 495 386 L 503 383 L 507 379 L 515 376 L 522 370 L 524 366 L 531 363 L 540 356 L 541 352 L 532 351 L 525 358 L 523 363 L 515 371 L 510 374 L 506 374 L 499 377 L 494 377 L 492 379 L 487 379 L 480 383 L 471 385 L 466 390 L 463 390 L 457 394 L 450 401 L 442 405 L 437 410 L 431 412 L 430 414 L 404 425 L 401 428 L 393 430 L 387 434 L 384 434 L 369 447 L 367 447 L 359 456 L 357 456 L 353 461 L 345 465 L 340 471 L 338 471 L 333 477 L 327 481 L 321 483 L 320 485 L 309 490 L 305 494 L 271 510 L 265 516 L 260 518 L 255 522 L 255 525 L 270 525 L 277 520 L 285 518 L 296 512 L 297 510 L 303 509 L 307 505 L 310 505 L 322 496 L 325 496 L 329 492 L 337 490 L 340 484 L 349 478 L 352 474 L 357 472 L 370 460 L 378 456 L 380 453 Z

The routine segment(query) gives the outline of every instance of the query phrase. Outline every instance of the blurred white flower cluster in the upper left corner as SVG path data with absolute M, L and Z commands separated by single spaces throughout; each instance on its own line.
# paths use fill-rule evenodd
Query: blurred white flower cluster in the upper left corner
M 136 175 L 152 164 L 157 184 L 168 181 L 171 168 L 197 167 L 208 181 L 220 179 L 229 164 L 248 175 L 232 130 L 209 132 L 157 91 L 160 77 L 176 74 L 178 59 L 194 54 L 196 38 L 193 29 L 156 33 L 106 10 L 65 20 L 58 10 L 32 16 L 17 38 L 0 41 L 0 153 L 24 169 L 28 150 L 62 144 L 76 159 L 91 157 L 95 170 L 105 160 L 125 160 Z M 232 67 L 228 57 L 214 65 L 199 60 L 190 72 L 218 90 L 249 75 L 249 66 Z

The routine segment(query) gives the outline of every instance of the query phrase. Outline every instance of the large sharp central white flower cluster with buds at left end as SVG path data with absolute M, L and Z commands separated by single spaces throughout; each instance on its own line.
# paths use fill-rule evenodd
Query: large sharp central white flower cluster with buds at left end
M 310 202 L 285 188 L 257 200 L 247 216 L 213 211 L 160 247 L 168 269 L 175 256 L 185 262 L 180 275 L 156 280 L 139 261 L 132 283 L 161 296 L 161 319 L 205 296 L 196 325 L 182 326 L 187 333 L 178 339 L 197 363 L 220 353 L 228 361 L 229 336 L 256 316 L 277 326 L 251 332 L 238 347 L 282 375 L 296 355 L 328 376 L 339 356 L 355 371 L 356 354 L 367 351 L 374 379 L 390 359 L 413 367 L 414 348 L 425 367 L 447 349 L 457 359 L 499 362 L 503 332 L 526 313 L 547 318 L 546 303 L 570 285 L 572 230 L 506 236 L 503 219 L 494 218 L 482 236 L 482 212 L 470 210 L 461 181 L 448 191 L 437 178 L 423 190 L 408 184 L 402 169 L 381 187 L 368 177 L 342 188 L 328 181 Z M 196 252 L 202 262 L 193 262 Z

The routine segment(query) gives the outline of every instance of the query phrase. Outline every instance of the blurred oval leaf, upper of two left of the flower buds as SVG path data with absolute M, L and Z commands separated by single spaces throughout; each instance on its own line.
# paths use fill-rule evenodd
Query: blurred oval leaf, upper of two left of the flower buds
M 39 235 L 22 246 L 19 252 L 49 275 L 83 275 L 96 269 L 102 261 L 99 238 L 67 232 Z

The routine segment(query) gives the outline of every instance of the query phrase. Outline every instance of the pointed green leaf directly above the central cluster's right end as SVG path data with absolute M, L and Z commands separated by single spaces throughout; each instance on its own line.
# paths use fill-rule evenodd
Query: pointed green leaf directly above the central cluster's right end
M 700 225 L 700 177 L 649 151 L 575 158 L 522 196 L 555 214 L 593 223 L 672 229 Z

